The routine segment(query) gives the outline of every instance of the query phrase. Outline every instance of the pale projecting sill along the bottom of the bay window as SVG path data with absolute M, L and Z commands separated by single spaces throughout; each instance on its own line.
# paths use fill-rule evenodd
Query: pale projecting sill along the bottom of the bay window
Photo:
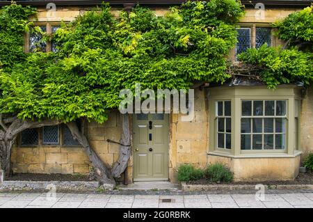
M 233 155 L 227 154 L 226 152 L 208 152 L 208 155 L 218 156 L 218 157 L 230 157 L 234 159 L 248 159 L 248 158 L 294 158 L 298 155 L 302 154 L 301 151 L 296 150 L 294 154 L 287 154 L 287 153 L 251 153 L 251 154 L 240 154 L 240 155 Z

